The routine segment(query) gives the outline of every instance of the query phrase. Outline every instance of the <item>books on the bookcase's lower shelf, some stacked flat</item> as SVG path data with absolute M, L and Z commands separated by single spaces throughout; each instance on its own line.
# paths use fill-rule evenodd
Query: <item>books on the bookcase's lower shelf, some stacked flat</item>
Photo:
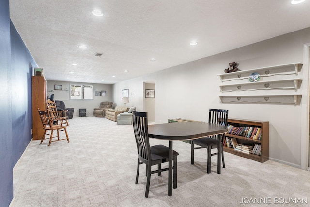
M 225 137 L 223 140 L 223 145 L 233 148 L 235 151 L 246 153 L 246 154 L 262 154 L 262 146 L 261 144 L 247 145 L 247 144 L 238 144 L 236 138 Z

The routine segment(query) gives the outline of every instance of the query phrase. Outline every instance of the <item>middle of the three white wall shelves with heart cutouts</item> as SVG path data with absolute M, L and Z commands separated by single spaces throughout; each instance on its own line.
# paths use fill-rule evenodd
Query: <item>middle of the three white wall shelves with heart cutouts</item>
M 258 81 L 247 82 L 239 84 L 225 84 L 219 85 L 221 92 L 231 91 L 255 91 L 255 90 L 295 90 L 300 87 L 302 79 L 284 79 L 284 80 L 272 80 L 272 81 Z

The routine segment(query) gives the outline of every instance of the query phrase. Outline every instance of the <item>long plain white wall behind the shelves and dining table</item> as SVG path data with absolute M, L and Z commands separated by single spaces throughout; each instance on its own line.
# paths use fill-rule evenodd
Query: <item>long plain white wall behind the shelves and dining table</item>
M 207 121 L 209 108 L 228 109 L 231 118 L 269 121 L 269 159 L 301 167 L 301 156 L 305 155 L 300 151 L 307 144 L 301 137 L 307 123 L 301 120 L 307 116 L 302 114 L 302 107 L 308 106 L 302 103 L 309 98 L 309 89 L 303 88 L 309 84 L 308 68 L 303 67 L 298 75 L 303 78 L 299 89 L 302 103 L 296 106 L 220 103 L 217 74 L 224 73 L 230 62 L 238 62 L 240 70 L 303 63 L 306 43 L 310 43 L 310 28 L 114 84 L 113 97 L 121 99 L 121 89 L 128 88 L 129 94 L 133 93 L 130 103 L 138 107 L 137 111 L 143 110 L 143 82 L 155 80 L 156 123 L 167 123 L 169 118 Z

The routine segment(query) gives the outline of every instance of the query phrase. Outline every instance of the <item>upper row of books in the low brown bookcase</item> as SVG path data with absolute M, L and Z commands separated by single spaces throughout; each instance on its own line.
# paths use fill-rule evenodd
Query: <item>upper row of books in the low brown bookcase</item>
M 262 139 L 262 129 L 260 127 L 236 127 L 232 124 L 229 124 L 227 133 L 247 137 L 254 140 Z

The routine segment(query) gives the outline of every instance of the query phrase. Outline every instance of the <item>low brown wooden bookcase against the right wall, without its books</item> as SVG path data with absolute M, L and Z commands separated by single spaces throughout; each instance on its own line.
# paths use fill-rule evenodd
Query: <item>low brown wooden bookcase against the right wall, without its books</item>
M 235 119 L 229 118 L 228 124 L 234 125 L 235 127 L 257 127 L 261 128 L 261 139 L 251 139 L 244 136 L 239 136 L 235 134 L 229 134 L 228 132 L 225 134 L 225 138 L 236 138 L 238 144 L 244 145 L 261 145 L 261 155 L 255 154 L 246 154 L 243 152 L 236 151 L 234 148 L 223 146 L 223 150 L 225 152 L 232 153 L 234 155 L 238 155 L 244 158 L 252 159 L 258 162 L 265 162 L 269 159 L 269 122 L 267 121 L 255 121 L 255 120 L 246 120 L 246 119 Z

